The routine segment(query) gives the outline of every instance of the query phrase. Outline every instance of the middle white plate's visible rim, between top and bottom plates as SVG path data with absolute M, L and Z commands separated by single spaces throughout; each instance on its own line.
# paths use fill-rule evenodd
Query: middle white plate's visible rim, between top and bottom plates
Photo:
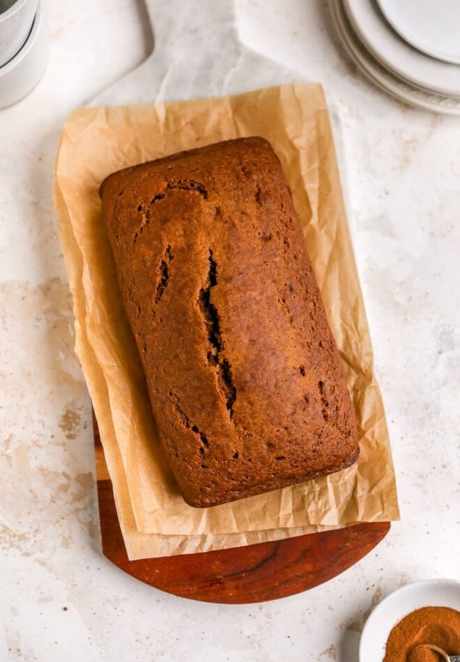
M 429 92 L 460 96 L 460 67 L 434 60 L 399 39 L 375 0 L 344 0 L 344 8 L 362 43 L 394 74 Z

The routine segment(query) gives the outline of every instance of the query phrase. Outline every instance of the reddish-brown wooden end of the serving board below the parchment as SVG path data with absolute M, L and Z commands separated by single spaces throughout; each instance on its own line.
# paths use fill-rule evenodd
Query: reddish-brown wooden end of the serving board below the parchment
M 389 522 L 362 523 L 246 547 L 130 561 L 95 419 L 94 442 L 104 555 L 133 577 L 177 596 L 247 604 L 300 593 L 353 566 L 390 530 Z

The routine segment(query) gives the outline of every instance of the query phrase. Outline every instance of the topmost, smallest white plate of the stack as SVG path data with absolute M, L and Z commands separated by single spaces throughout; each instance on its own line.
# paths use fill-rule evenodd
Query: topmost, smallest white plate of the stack
M 428 24 L 426 32 L 424 32 L 424 29 L 426 29 L 427 24 L 419 22 L 417 25 L 417 15 L 420 15 L 420 7 L 418 8 L 419 12 L 417 12 L 418 1 L 420 0 L 397 0 L 397 2 L 394 2 L 394 0 L 377 0 L 392 28 L 413 47 L 444 62 L 460 64 L 460 40 L 457 47 L 451 50 L 445 44 L 438 42 L 430 33 L 429 26 L 431 23 Z M 412 20 L 407 20 L 404 14 L 399 13 L 398 8 L 401 8 L 401 2 L 404 2 L 406 10 L 407 8 L 413 8 Z M 441 14 L 442 9 L 438 13 Z M 457 22 L 458 15 L 453 17 L 452 20 Z

